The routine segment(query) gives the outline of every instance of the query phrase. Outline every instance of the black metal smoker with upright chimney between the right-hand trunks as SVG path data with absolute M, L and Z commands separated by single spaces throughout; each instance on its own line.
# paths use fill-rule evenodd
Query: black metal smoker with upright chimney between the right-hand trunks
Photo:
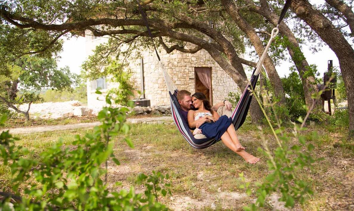
M 325 91 L 321 94 L 321 98 L 322 98 L 322 111 L 325 111 L 325 101 L 327 101 L 329 115 L 332 115 L 331 100 L 333 100 L 333 104 L 335 106 L 337 106 L 337 99 L 335 96 L 335 88 L 337 85 L 337 76 L 335 74 L 333 74 L 332 67 L 333 67 L 333 60 L 328 60 L 327 72 L 325 72 L 323 74 L 323 84 L 321 84 L 319 86 L 319 90 L 322 90 L 326 86 L 326 84 L 328 84 L 325 87 Z

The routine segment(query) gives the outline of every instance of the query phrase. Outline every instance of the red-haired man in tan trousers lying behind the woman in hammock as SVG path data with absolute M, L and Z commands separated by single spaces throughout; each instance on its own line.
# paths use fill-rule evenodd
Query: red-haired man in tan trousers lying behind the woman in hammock
M 177 100 L 179 103 L 179 107 L 180 107 L 180 111 L 183 116 L 183 119 L 188 125 L 188 118 L 187 118 L 188 111 L 192 108 L 191 93 L 187 90 L 181 90 L 177 93 Z M 224 100 L 223 102 L 219 102 L 218 104 L 211 107 L 211 109 L 215 110 L 219 114 L 219 116 L 227 115 L 228 117 L 230 117 L 232 115 L 232 110 L 231 110 L 232 104 L 227 100 Z M 198 122 L 196 123 L 196 125 L 202 125 L 202 123 L 204 123 L 205 121 L 210 121 L 210 120 L 199 119 L 197 121 Z M 203 134 L 197 134 L 194 137 L 197 139 L 205 138 L 205 136 Z

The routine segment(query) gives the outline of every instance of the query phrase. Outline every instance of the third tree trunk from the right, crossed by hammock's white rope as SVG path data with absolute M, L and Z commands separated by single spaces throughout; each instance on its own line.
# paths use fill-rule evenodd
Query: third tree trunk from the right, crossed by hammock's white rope
M 248 38 L 250 39 L 251 43 L 256 49 L 257 54 L 262 56 L 264 52 L 264 47 L 259 39 L 256 31 L 246 22 L 244 18 L 242 18 L 238 13 L 238 8 L 236 8 L 234 2 L 232 0 L 222 0 L 221 1 L 227 13 L 232 17 L 235 24 L 239 26 L 239 28 L 246 33 Z M 267 71 L 268 78 L 270 81 L 270 85 L 274 91 L 274 95 L 276 100 L 279 102 L 278 104 L 285 104 L 285 93 L 284 88 L 282 86 L 280 77 L 275 70 L 275 66 L 273 64 L 272 59 L 270 59 L 269 55 L 267 54 L 264 60 L 264 67 Z

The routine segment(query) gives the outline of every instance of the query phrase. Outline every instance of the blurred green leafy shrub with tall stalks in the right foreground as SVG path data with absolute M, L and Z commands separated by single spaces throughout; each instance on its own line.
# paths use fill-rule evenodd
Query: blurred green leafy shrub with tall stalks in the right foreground
M 319 97 L 321 91 L 313 96 Z M 255 96 L 258 104 L 261 105 L 259 98 Z M 263 148 L 258 148 L 258 151 L 262 152 L 266 157 L 268 157 L 267 164 L 270 173 L 265 177 L 263 183 L 257 182 L 257 190 L 255 192 L 257 200 L 250 206 L 244 207 L 244 210 L 257 210 L 259 207 L 264 207 L 267 202 L 267 197 L 273 193 L 280 195 L 279 201 L 285 202 L 285 207 L 293 207 L 296 203 L 303 204 L 308 195 L 312 195 L 313 191 L 311 189 L 311 184 L 306 182 L 304 179 L 299 177 L 304 168 L 312 168 L 312 164 L 318 159 L 314 159 L 311 156 L 311 151 L 314 146 L 312 144 L 306 144 L 306 136 L 301 135 L 301 132 L 305 130 L 304 122 L 308 118 L 312 108 L 309 108 L 307 114 L 304 118 L 299 117 L 298 121 L 302 122 L 301 126 L 293 123 L 293 135 L 286 134 L 285 128 L 281 126 L 281 120 L 276 115 L 276 109 L 273 103 L 271 103 L 270 97 L 267 92 L 263 93 L 263 98 L 268 100 L 270 108 L 272 108 L 274 116 L 276 117 L 276 123 L 278 129 L 274 129 L 272 123 L 270 122 L 264 109 L 263 114 L 267 119 L 267 122 L 272 129 L 274 138 L 278 143 L 278 147 L 274 151 L 270 151 L 268 147 L 268 140 L 263 135 L 263 130 L 259 127 L 261 131 L 261 137 L 263 140 Z M 316 133 L 314 133 L 316 134 Z M 292 144 L 292 137 L 298 139 L 298 144 Z M 313 137 L 317 138 L 317 137 Z M 245 182 L 243 173 L 239 174 L 244 185 L 241 188 L 245 188 L 248 195 L 252 194 L 250 188 L 250 182 Z

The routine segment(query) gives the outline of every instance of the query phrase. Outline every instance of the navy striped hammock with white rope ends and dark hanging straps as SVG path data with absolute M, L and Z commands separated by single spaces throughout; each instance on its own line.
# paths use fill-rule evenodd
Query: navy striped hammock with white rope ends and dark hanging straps
M 142 14 L 142 18 L 144 20 L 145 25 L 147 26 L 147 30 L 148 33 L 150 35 L 150 38 L 153 42 L 154 48 L 155 48 L 155 52 L 156 55 L 159 59 L 159 64 L 160 64 L 160 71 L 162 72 L 164 78 L 165 78 L 165 82 L 167 85 L 167 89 L 169 91 L 170 94 L 170 100 L 171 100 L 171 113 L 172 113 L 172 117 L 173 117 L 173 121 L 176 123 L 176 126 L 179 130 L 179 132 L 181 132 L 183 138 L 185 140 L 187 140 L 187 142 L 194 148 L 196 149 L 204 149 L 206 147 L 209 147 L 215 143 L 217 143 L 220 140 L 215 140 L 214 138 L 203 138 L 203 139 L 196 139 L 194 138 L 192 132 L 190 131 L 187 122 L 184 121 L 183 116 L 181 114 L 181 110 L 179 107 L 179 103 L 177 100 L 177 93 L 178 93 L 178 89 L 177 87 L 173 84 L 169 74 L 166 71 L 166 68 L 164 67 L 164 65 L 162 64 L 161 60 L 160 60 L 160 56 L 156 50 L 154 41 L 153 41 L 153 36 L 151 34 L 147 19 L 146 19 L 146 15 L 144 13 L 144 11 L 142 10 L 141 5 L 139 4 L 139 0 L 137 0 L 138 5 L 139 5 L 139 10 Z M 265 55 L 267 54 L 268 48 L 270 47 L 270 44 L 272 43 L 273 38 L 278 35 L 278 26 L 281 22 L 281 20 L 284 18 L 285 13 L 287 11 L 287 9 L 290 6 L 290 2 L 291 0 L 286 0 L 285 5 L 283 10 L 281 11 L 280 14 L 280 18 L 279 18 L 279 22 L 276 28 L 274 28 L 272 30 L 272 34 L 270 36 L 270 39 L 268 41 L 267 46 L 264 49 L 263 55 L 261 56 L 261 58 L 259 58 L 259 61 L 257 63 L 257 66 L 255 68 L 255 70 L 252 73 L 251 79 L 249 84 L 246 86 L 244 92 L 242 93 L 239 102 L 236 105 L 235 110 L 232 113 L 232 122 L 233 125 L 235 127 L 235 130 L 237 130 L 238 128 L 241 127 L 241 125 L 245 122 L 248 110 L 250 108 L 250 104 L 251 104 L 251 100 L 252 100 L 252 91 L 256 88 L 256 84 L 258 81 L 258 76 L 259 76 L 259 72 L 261 71 L 262 65 L 263 65 L 263 61 L 265 59 Z M 252 87 L 251 87 L 252 86 Z

